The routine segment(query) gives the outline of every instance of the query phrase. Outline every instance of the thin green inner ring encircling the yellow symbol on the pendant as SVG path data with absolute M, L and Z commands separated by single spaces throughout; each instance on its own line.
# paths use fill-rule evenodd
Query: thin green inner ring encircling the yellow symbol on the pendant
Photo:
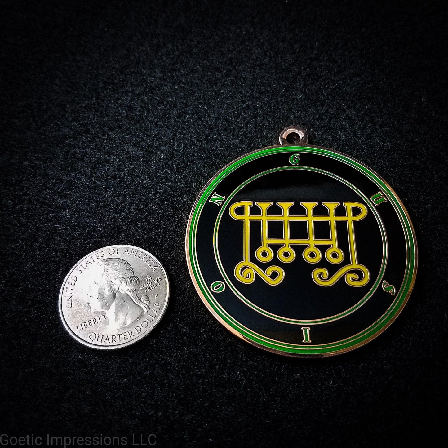
M 379 274 L 378 274 L 378 277 L 377 277 L 377 280 L 376 280 L 375 284 L 370 288 L 369 293 L 367 293 L 366 296 L 364 296 L 358 303 L 356 303 L 355 305 L 351 306 L 349 309 L 347 309 L 345 311 L 341 311 L 340 313 L 338 313 L 338 314 L 336 314 L 334 316 L 328 317 L 328 318 L 300 321 L 299 319 L 289 319 L 289 318 L 286 318 L 286 317 L 276 316 L 275 314 L 271 314 L 268 311 L 263 310 L 259 306 L 256 306 L 252 302 L 250 302 L 249 299 L 246 299 L 246 297 L 244 297 L 238 291 L 238 289 L 233 285 L 233 283 L 229 280 L 227 274 L 225 273 L 224 268 L 222 267 L 221 260 L 220 260 L 219 256 L 216 258 L 216 255 L 219 254 L 218 240 L 217 240 L 218 227 L 219 227 L 219 224 L 220 224 L 221 216 L 223 215 L 225 207 L 227 207 L 228 202 L 233 198 L 233 196 L 235 194 L 238 193 L 238 191 L 241 190 L 241 188 L 243 188 L 244 186 L 249 184 L 251 181 L 255 180 L 257 177 L 264 176 L 265 174 L 268 174 L 270 172 L 281 171 L 281 170 L 284 170 L 284 169 L 298 169 L 298 170 L 302 169 L 302 170 L 308 170 L 308 171 L 315 171 L 315 172 L 319 172 L 321 174 L 330 175 L 330 176 L 332 176 L 334 178 L 337 178 L 338 181 L 340 181 L 340 182 L 344 183 L 345 185 L 347 185 L 348 187 L 350 187 L 353 191 L 358 193 L 359 196 L 361 196 L 366 201 L 367 207 L 370 208 L 370 210 L 372 211 L 373 215 L 375 216 L 375 219 L 377 220 L 377 222 L 379 224 L 379 231 L 381 232 L 381 237 L 383 239 L 383 262 L 381 264 L 381 268 L 379 270 Z M 235 295 L 237 297 L 239 297 L 240 300 L 242 300 L 244 303 L 246 303 L 247 306 L 250 306 L 255 311 L 258 311 L 258 313 L 264 314 L 264 315 L 270 317 L 271 319 L 276 319 L 276 320 L 279 320 L 281 322 L 287 322 L 287 323 L 291 323 L 291 324 L 294 324 L 294 325 L 313 325 L 313 324 L 319 324 L 319 323 L 332 322 L 333 320 L 340 319 L 341 317 L 344 317 L 344 316 L 352 313 L 353 311 L 357 310 L 360 306 L 364 305 L 364 303 L 366 303 L 367 300 L 369 300 L 369 298 L 372 296 L 372 294 L 375 292 L 375 290 L 378 288 L 379 284 L 381 283 L 381 278 L 383 277 L 384 271 L 386 270 L 386 264 L 387 264 L 387 258 L 388 258 L 388 245 L 387 245 L 387 240 L 386 240 L 386 235 L 385 235 L 385 231 L 384 231 L 383 222 L 381 221 L 381 218 L 379 217 L 378 212 L 375 210 L 375 207 L 371 204 L 371 202 L 366 197 L 366 195 L 363 194 L 361 191 L 359 191 L 358 188 L 356 188 L 354 185 L 350 184 L 350 182 L 347 182 L 345 179 L 342 179 L 339 176 L 335 176 L 331 172 L 324 171 L 324 170 L 321 170 L 321 169 L 318 169 L 318 168 L 303 167 L 303 166 L 289 166 L 289 167 L 273 168 L 271 170 L 267 170 L 265 172 L 259 173 L 258 175 L 251 177 L 246 182 L 243 182 L 241 185 L 239 185 L 238 188 L 233 190 L 233 192 L 228 195 L 228 197 L 226 198 L 225 202 L 222 203 L 221 210 L 218 213 L 218 217 L 216 218 L 216 224 L 215 224 L 215 231 L 213 233 L 213 239 L 214 239 L 213 246 L 214 246 L 214 250 L 215 250 L 215 258 L 216 258 L 216 261 L 218 263 L 218 268 L 219 268 L 219 270 L 221 272 L 221 275 L 223 276 L 224 280 L 228 284 L 229 288 L 232 289 L 233 293 L 235 293 Z

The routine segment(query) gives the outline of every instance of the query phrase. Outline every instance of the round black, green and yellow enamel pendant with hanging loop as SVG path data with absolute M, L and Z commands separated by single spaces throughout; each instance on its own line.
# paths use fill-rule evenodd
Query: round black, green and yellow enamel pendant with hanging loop
M 215 318 L 289 356 L 373 339 L 400 313 L 417 269 L 414 230 L 391 187 L 348 155 L 301 143 L 251 152 L 218 172 L 191 211 L 185 243 Z

